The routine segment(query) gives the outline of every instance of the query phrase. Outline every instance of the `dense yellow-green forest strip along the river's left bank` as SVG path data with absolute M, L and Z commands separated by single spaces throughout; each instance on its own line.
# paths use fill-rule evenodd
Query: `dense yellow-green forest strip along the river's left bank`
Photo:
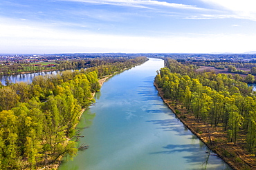
M 147 61 L 106 59 L 96 66 L 56 75 L 36 76 L 33 82 L 0 86 L 0 169 L 39 169 L 74 156 L 82 109 L 94 102 L 98 78 Z

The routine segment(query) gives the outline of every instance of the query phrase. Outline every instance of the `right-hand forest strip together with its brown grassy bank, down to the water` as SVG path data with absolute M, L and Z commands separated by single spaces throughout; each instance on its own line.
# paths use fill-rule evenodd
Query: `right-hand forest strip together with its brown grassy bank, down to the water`
M 256 94 L 243 78 L 165 59 L 155 85 L 176 116 L 233 169 L 256 169 Z

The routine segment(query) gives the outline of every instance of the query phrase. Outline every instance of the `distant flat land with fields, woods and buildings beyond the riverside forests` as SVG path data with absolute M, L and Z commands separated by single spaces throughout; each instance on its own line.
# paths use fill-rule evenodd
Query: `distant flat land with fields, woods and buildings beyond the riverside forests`
M 76 53 L 76 54 L 0 54 L 0 76 L 44 72 L 53 70 L 79 70 L 94 67 L 104 60 L 124 62 L 146 56 L 158 59 L 175 59 L 181 63 L 200 66 L 203 70 L 214 70 L 218 73 L 253 74 L 256 68 L 256 54 L 179 54 L 179 53 Z M 230 65 L 236 69 L 228 69 Z M 229 70 L 229 71 L 228 71 Z M 255 70 L 255 69 L 254 69 Z

